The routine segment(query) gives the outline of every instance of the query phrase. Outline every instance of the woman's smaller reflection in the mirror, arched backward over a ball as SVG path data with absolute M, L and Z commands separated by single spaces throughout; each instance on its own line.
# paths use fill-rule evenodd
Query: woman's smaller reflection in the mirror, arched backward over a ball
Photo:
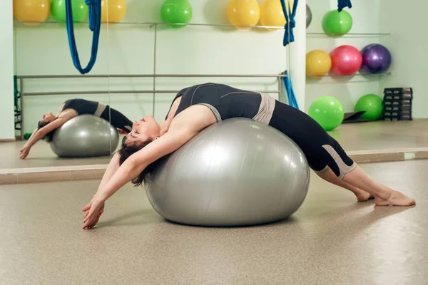
M 97 117 L 103 118 L 111 123 L 114 127 L 125 131 L 126 133 L 131 132 L 132 122 L 125 115 L 110 108 L 110 106 L 95 101 L 89 101 L 85 99 L 71 99 L 66 100 L 61 106 L 57 115 L 51 112 L 43 115 L 41 121 L 36 130 L 31 134 L 29 141 L 26 142 L 19 153 L 19 158 L 24 160 L 29 155 L 31 147 L 41 139 L 51 142 L 54 136 L 54 130 L 61 127 L 66 121 L 71 118 L 77 117 L 78 115 L 96 115 Z

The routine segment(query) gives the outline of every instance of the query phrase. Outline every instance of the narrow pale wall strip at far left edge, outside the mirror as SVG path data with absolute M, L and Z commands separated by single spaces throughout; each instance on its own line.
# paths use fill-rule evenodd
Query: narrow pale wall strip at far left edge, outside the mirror
M 14 139 L 14 31 L 12 1 L 0 9 L 0 139 Z

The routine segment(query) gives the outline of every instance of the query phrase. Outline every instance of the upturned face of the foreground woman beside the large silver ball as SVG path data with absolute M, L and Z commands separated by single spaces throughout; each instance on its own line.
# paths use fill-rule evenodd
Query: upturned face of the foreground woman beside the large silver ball
M 146 142 L 148 140 L 156 140 L 161 135 L 161 128 L 151 115 L 146 115 L 139 121 L 132 124 L 132 131 L 128 134 L 126 142 Z

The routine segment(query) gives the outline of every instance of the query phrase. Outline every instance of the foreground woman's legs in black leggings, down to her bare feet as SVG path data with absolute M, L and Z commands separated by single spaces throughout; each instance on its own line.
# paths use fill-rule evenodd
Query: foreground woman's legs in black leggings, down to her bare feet
M 329 171 L 320 172 L 323 179 L 352 192 L 367 192 L 374 197 L 374 203 L 378 205 L 415 204 L 414 199 L 372 180 L 340 144 L 306 113 L 277 101 L 269 125 L 280 130 L 302 148 L 313 170 L 320 172 L 328 166 Z

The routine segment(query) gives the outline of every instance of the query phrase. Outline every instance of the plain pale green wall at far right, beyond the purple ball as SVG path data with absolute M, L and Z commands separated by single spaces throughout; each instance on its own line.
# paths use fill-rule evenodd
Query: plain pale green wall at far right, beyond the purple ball
M 380 23 L 392 36 L 381 43 L 392 53 L 392 75 L 383 78 L 380 89 L 413 88 L 413 117 L 428 118 L 427 63 L 428 37 L 424 20 L 427 19 L 427 1 L 381 0 Z

